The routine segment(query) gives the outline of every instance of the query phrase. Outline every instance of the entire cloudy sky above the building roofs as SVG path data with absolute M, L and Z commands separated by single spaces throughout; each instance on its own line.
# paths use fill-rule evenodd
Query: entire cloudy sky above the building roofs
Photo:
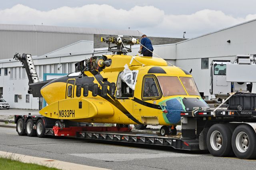
M 0 0 L 0 24 L 139 30 L 193 38 L 256 19 L 253 0 Z

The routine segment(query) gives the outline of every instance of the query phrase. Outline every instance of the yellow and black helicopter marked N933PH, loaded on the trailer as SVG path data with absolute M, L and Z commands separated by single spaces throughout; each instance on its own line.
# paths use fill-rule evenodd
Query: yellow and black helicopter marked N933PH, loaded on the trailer
M 165 135 L 168 126 L 180 123 L 180 111 L 208 107 L 189 72 L 168 66 L 161 58 L 126 55 L 131 45 L 139 43 L 137 39 L 108 37 L 102 41 L 113 54 L 80 61 L 75 73 L 35 82 L 33 69 L 26 69 L 29 93 L 48 103 L 39 111 L 41 115 L 61 121 L 163 125 L 160 132 Z M 27 57 L 31 55 L 14 55 L 24 66 Z

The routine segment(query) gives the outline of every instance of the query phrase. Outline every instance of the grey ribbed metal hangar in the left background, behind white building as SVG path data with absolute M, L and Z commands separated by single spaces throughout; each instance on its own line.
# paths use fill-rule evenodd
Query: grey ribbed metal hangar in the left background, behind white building
M 93 41 L 93 35 L 0 31 L 0 59 L 12 58 L 16 52 L 44 55 L 80 40 Z

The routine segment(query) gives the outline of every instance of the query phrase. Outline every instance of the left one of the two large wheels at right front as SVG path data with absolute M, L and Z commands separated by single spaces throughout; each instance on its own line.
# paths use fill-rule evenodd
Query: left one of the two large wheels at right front
M 207 133 L 207 148 L 213 156 L 228 156 L 232 151 L 232 133 L 227 125 L 215 124 Z

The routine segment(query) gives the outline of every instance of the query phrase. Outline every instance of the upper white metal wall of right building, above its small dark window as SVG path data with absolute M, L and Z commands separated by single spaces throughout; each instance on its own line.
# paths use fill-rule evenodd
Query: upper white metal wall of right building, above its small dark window
M 255 28 L 256 21 L 251 21 L 177 43 L 177 59 L 256 54 Z

